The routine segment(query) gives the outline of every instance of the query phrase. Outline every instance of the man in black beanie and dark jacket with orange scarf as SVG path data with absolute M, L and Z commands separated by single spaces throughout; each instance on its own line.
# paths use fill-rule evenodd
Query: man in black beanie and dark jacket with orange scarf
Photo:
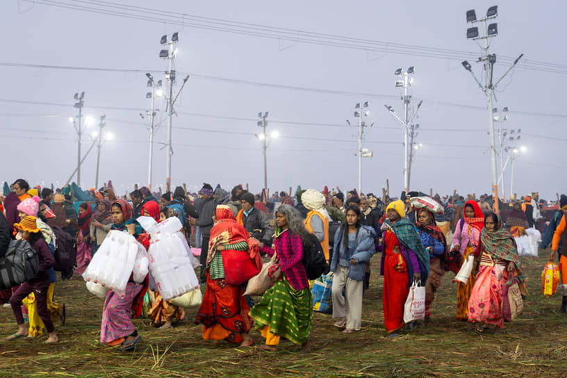
M 255 208 L 254 203 L 254 195 L 252 193 L 245 192 L 243 195 L 240 195 L 240 204 L 243 208 L 238 211 L 236 220 L 244 226 L 253 238 L 270 247 L 274 237 L 274 229 L 270 225 L 270 221 L 265 213 Z

